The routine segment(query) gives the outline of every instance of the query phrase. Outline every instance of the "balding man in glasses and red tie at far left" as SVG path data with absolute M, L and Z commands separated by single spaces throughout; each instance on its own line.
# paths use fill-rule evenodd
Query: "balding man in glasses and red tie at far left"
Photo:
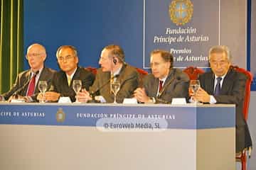
M 1 100 L 9 100 L 23 98 L 25 101 L 36 101 L 39 93 L 38 82 L 50 81 L 53 79 L 53 69 L 44 67 L 46 60 L 46 49 L 43 45 L 33 44 L 28 47 L 26 59 L 31 69 L 18 74 L 14 86 L 5 94 L 0 96 Z

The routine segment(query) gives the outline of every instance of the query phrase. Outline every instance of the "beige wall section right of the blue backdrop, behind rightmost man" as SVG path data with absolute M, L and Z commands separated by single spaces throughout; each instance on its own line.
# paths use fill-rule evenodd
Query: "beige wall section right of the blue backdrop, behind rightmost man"
M 220 6 L 220 45 L 230 47 L 233 64 L 246 69 L 247 0 L 220 0 Z

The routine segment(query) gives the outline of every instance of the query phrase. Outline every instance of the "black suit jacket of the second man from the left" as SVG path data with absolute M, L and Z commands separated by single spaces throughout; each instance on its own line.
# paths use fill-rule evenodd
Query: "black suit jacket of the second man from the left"
M 89 90 L 89 86 L 92 85 L 95 76 L 92 72 L 88 71 L 85 68 L 78 67 L 75 71 L 73 79 L 68 86 L 68 79 L 62 70 L 56 72 L 53 77 L 52 84 L 50 86 L 50 91 L 55 91 L 60 94 L 60 96 L 68 96 L 71 101 L 75 101 L 75 91 L 73 90 L 73 80 L 81 80 L 82 81 L 82 89 Z

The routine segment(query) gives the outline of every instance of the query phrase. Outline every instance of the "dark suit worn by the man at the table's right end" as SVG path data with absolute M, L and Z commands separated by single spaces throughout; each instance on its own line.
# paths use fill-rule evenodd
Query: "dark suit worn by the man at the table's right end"
M 213 95 L 214 79 L 213 72 L 207 72 L 199 77 L 201 87 L 210 95 Z M 247 77 L 244 74 L 230 69 L 223 79 L 220 95 L 214 96 L 217 103 L 233 103 L 236 106 L 236 152 L 252 145 L 247 123 L 242 115 L 246 79 Z

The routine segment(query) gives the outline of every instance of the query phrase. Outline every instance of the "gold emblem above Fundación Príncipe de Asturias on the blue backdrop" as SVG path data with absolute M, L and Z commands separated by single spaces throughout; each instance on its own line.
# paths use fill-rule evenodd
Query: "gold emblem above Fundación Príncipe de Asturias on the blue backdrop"
M 169 15 L 171 21 L 176 26 L 185 25 L 191 21 L 193 16 L 193 4 L 190 0 L 174 0 L 169 5 Z

